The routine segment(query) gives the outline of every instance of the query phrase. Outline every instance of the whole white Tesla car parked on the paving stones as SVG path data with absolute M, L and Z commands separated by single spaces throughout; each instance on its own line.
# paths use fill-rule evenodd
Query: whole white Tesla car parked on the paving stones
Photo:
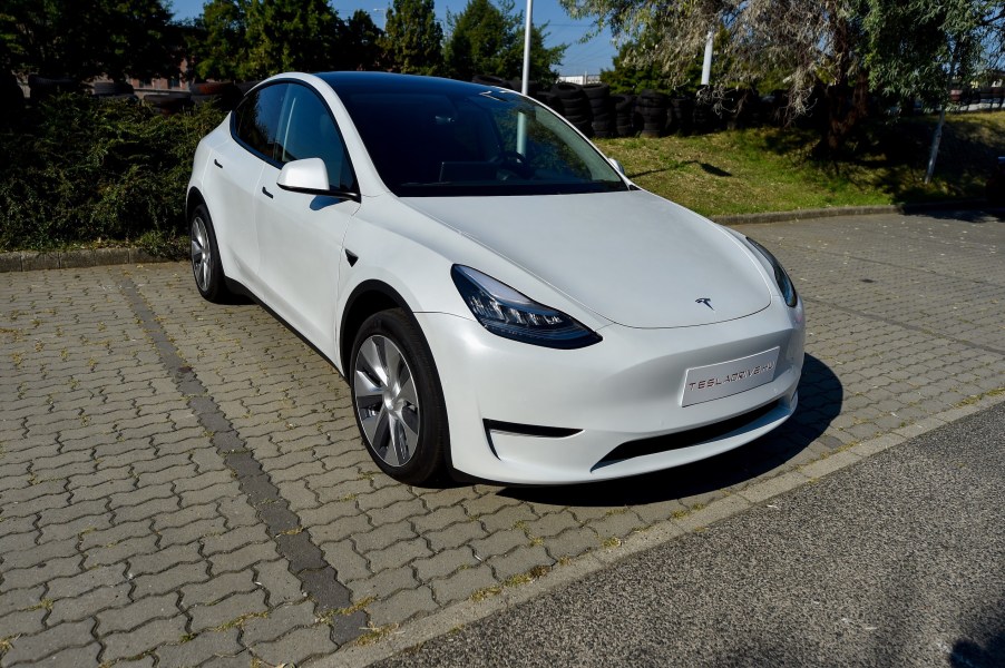
M 273 77 L 199 144 L 187 210 L 199 293 L 248 292 L 321 351 L 403 482 L 634 475 L 796 410 L 778 261 L 513 91 Z

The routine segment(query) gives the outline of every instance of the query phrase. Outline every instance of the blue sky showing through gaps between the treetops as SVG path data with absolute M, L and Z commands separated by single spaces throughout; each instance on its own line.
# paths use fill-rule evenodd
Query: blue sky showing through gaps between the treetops
M 170 9 L 176 19 L 196 17 L 203 12 L 205 0 L 170 0 Z M 165 2 L 167 4 L 167 2 Z M 358 9 L 370 12 L 373 21 L 383 28 L 384 9 L 390 4 L 388 0 L 334 0 L 332 6 L 343 19 L 348 19 Z M 436 14 L 443 28 L 447 27 L 447 11 L 459 13 L 467 4 L 467 0 L 436 0 Z M 516 1 L 518 11 L 527 7 L 525 0 Z M 534 23 L 540 26 L 547 22 L 547 46 L 559 43 L 568 45 L 565 59 L 558 66 L 558 73 L 570 75 L 598 75 L 602 69 L 612 69 L 612 59 L 617 49 L 611 41 L 611 33 L 604 31 L 593 39 L 580 42 L 588 35 L 593 24 L 589 21 L 576 21 L 570 19 L 558 0 L 536 0 L 534 2 Z M 519 72 L 515 72 L 519 76 Z

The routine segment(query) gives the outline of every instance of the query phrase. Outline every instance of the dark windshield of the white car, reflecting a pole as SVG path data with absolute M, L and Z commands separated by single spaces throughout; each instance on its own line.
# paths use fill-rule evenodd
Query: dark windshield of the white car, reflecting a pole
M 466 86 L 340 97 L 384 184 L 402 197 L 627 189 L 588 141 L 514 92 Z

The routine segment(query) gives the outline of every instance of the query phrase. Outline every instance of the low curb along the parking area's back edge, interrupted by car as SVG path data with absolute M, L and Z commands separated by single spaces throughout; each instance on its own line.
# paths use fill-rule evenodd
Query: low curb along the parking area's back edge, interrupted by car
M 836 218 L 838 216 L 875 216 L 879 214 L 920 214 L 934 210 L 964 210 L 985 207 L 984 199 L 960 199 L 957 202 L 933 202 L 925 204 L 898 204 L 886 206 L 846 206 L 822 209 L 798 209 L 794 212 L 772 212 L 763 214 L 738 214 L 734 216 L 712 216 L 721 225 L 750 225 L 755 223 L 786 223 L 812 218 Z M 997 209 L 996 209 L 997 210 Z M 16 250 L 0 253 L 0 274 L 4 272 L 32 272 L 36 269 L 75 269 L 123 264 L 153 264 L 176 262 L 156 257 L 133 246 L 120 248 L 86 248 L 81 250 L 57 250 L 36 253 Z

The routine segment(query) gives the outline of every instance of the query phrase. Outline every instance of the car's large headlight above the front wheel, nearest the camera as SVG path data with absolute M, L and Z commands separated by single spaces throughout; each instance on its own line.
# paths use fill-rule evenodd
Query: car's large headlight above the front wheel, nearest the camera
M 596 332 L 470 267 L 453 265 L 453 284 L 481 326 L 504 338 L 554 348 L 579 348 L 601 341 Z

